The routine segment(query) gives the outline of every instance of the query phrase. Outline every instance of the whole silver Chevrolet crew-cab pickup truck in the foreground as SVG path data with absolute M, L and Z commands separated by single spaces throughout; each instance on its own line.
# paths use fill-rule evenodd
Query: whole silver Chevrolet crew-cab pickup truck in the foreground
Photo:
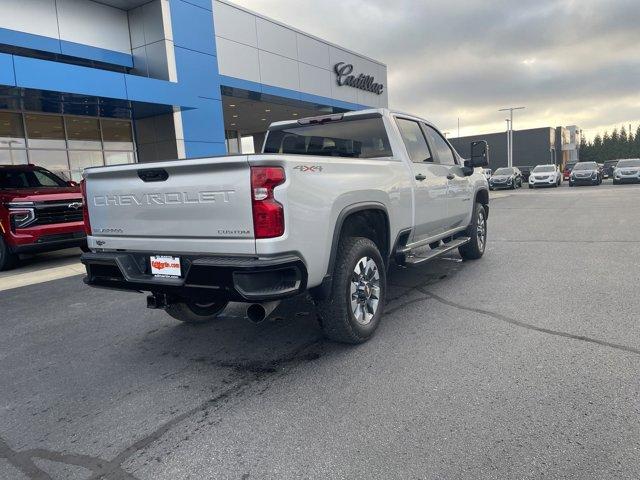
M 261 321 L 308 291 L 328 338 L 363 342 L 391 262 L 484 253 L 486 142 L 471 151 L 372 109 L 274 123 L 261 154 L 89 168 L 85 282 L 149 292 L 149 307 L 188 323 L 229 301 Z

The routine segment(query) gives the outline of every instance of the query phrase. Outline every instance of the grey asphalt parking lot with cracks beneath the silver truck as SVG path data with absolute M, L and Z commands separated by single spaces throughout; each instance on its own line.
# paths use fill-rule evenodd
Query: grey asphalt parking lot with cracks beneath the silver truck
M 0 291 L 0 478 L 640 478 L 640 187 L 506 193 L 357 347 L 303 298 L 194 328 L 81 276 Z

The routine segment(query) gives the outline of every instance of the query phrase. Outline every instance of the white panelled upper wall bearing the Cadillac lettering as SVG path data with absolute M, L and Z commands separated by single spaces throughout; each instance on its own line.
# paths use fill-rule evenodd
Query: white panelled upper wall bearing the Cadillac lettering
M 361 105 L 387 106 L 386 67 L 287 25 L 214 0 L 218 66 L 222 75 L 311 93 Z M 339 86 L 334 65 L 353 65 L 353 74 L 372 75 L 382 95 Z

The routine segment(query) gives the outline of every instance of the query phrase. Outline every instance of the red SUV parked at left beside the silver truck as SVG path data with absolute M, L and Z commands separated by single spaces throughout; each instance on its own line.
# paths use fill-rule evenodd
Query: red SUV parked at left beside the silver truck
M 0 165 L 0 270 L 19 253 L 86 248 L 82 192 L 34 165 Z

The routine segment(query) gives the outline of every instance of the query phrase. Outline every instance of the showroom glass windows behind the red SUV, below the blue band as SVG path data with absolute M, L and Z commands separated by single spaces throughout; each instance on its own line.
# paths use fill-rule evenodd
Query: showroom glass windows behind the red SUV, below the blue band
M 0 111 L 0 164 L 40 165 L 70 180 L 136 161 L 131 120 Z

